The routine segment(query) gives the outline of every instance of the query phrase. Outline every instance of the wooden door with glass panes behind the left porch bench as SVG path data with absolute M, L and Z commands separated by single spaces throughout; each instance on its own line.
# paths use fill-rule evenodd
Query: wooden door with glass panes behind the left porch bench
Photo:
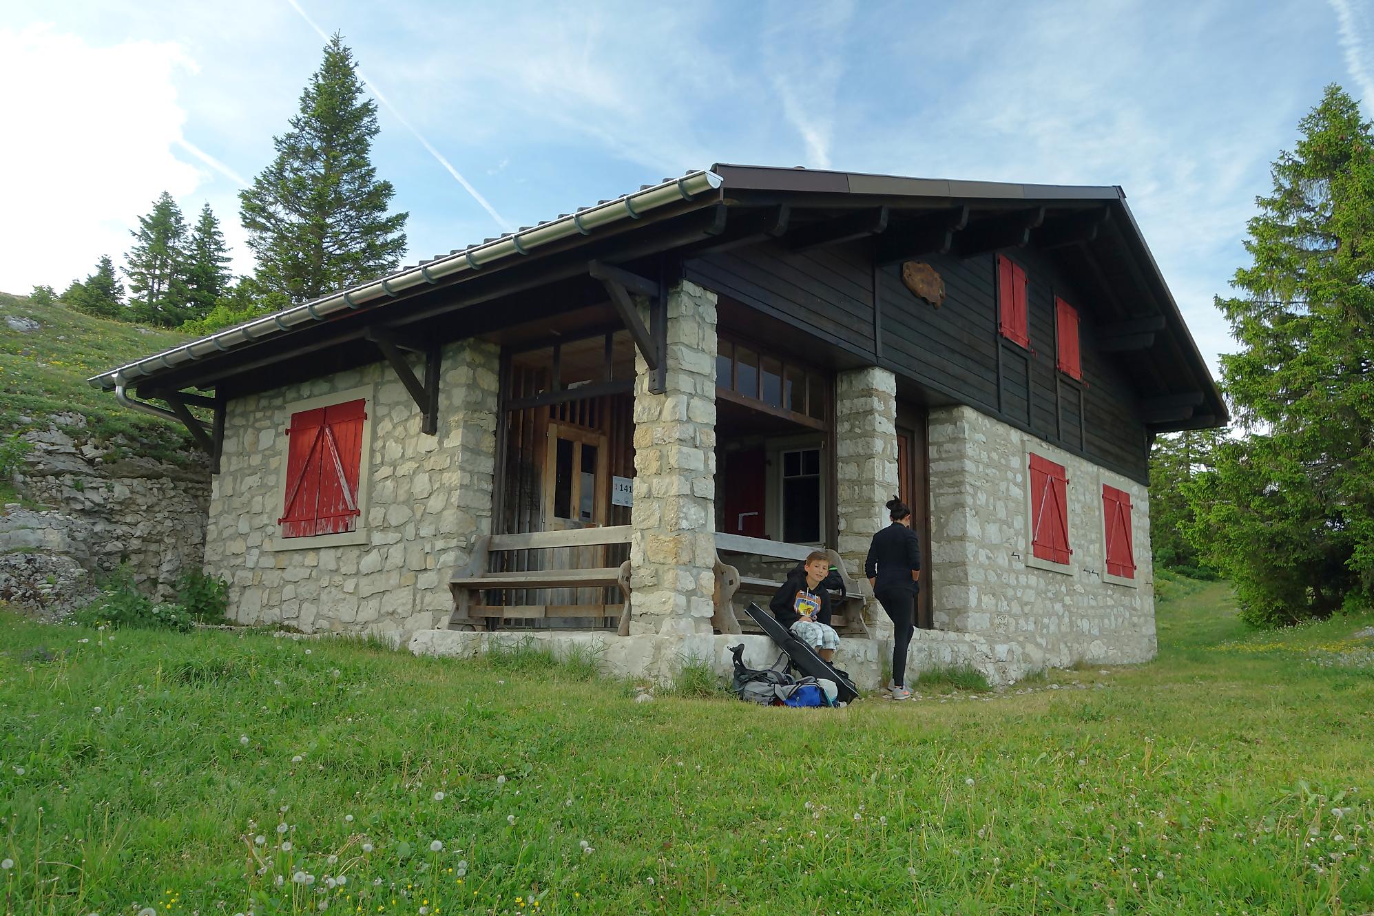
M 541 492 L 544 530 L 599 527 L 610 504 L 610 450 L 603 433 L 566 423 L 548 424 Z M 544 569 L 599 569 L 606 547 L 547 551 Z M 598 589 L 551 589 L 550 604 L 599 604 Z

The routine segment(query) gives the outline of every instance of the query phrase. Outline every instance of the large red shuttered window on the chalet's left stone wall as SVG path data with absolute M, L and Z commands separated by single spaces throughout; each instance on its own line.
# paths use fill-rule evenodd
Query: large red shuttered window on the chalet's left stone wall
M 282 537 L 356 531 L 367 400 L 291 415 Z

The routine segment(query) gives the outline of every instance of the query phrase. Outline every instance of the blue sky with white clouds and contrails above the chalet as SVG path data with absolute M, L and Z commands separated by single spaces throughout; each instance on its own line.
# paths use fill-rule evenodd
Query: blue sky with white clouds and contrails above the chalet
M 164 188 L 188 216 L 209 201 L 250 271 L 235 192 L 319 65 L 317 26 L 389 103 L 374 159 L 409 257 L 712 162 L 1120 184 L 1215 363 L 1212 295 L 1270 162 L 1327 82 L 1370 111 L 1371 5 L 8 0 L 0 290 L 118 261 Z

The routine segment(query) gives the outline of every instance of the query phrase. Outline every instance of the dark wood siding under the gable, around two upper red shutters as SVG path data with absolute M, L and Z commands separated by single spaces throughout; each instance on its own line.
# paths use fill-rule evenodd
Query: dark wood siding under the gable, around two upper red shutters
M 1131 386 L 1094 347 L 1095 304 L 1051 257 L 1024 249 L 1006 254 L 1029 279 L 1029 350 L 998 332 L 995 253 L 921 258 L 944 280 L 938 309 L 907 290 L 900 266 L 875 273 L 861 244 L 793 254 L 767 243 L 691 258 L 684 272 L 937 396 L 1145 482 L 1145 427 Z M 1079 310 L 1081 382 L 1055 368 L 1057 295 Z

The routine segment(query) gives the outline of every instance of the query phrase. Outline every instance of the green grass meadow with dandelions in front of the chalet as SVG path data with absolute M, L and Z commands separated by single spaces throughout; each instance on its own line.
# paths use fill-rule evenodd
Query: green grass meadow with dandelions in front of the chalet
M 1374 677 L 1330 659 L 1369 623 L 1252 634 L 1208 584 L 1150 665 L 793 710 L 7 618 L 0 911 L 1366 913 Z

